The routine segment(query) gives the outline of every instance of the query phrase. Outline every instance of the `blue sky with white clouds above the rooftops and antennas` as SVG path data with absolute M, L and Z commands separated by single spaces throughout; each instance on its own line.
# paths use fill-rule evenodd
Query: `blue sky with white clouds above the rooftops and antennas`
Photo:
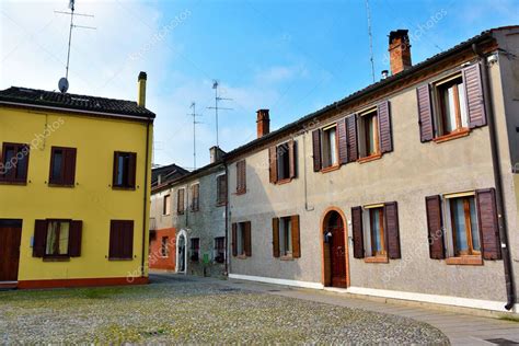
M 0 89 L 57 90 L 65 76 L 68 0 L 0 0 Z M 369 0 L 376 80 L 389 69 L 388 35 L 410 30 L 413 64 L 484 30 L 519 24 L 519 0 Z M 275 130 L 372 83 L 366 0 L 76 0 L 69 93 L 137 100 L 148 73 L 157 114 L 153 163 L 209 163 L 216 145 L 256 137 L 256 111 Z M 95 140 L 95 137 L 92 137 Z

